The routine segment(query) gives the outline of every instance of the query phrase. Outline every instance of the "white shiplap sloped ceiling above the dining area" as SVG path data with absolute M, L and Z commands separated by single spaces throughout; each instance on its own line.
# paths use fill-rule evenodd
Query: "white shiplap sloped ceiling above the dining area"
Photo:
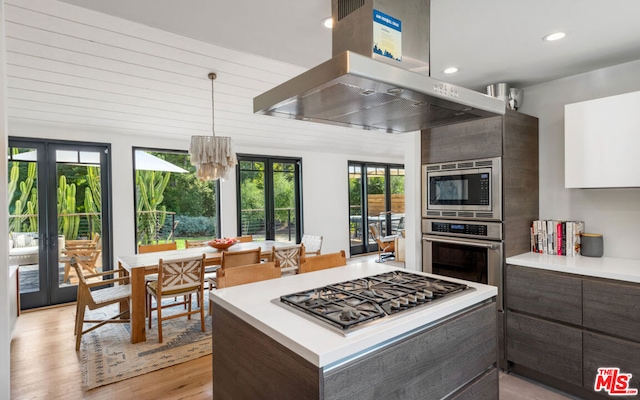
M 7 112 L 17 124 L 184 138 L 215 131 L 236 148 L 380 156 L 393 135 L 253 114 L 253 97 L 306 68 L 227 49 L 54 0 L 6 0 Z M 91 136 L 94 135 L 94 136 Z M 153 145 L 153 142 L 150 142 Z M 366 159 L 366 158 L 365 158 Z

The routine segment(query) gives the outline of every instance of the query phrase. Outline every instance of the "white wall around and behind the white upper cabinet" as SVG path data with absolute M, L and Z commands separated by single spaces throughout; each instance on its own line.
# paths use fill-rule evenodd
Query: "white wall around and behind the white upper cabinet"
M 540 218 L 584 220 L 608 257 L 640 259 L 640 188 L 564 188 L 564 105 L 638 91 L 638 77 L 634 61 L 527 87 L 520 110 L 540 119 Z

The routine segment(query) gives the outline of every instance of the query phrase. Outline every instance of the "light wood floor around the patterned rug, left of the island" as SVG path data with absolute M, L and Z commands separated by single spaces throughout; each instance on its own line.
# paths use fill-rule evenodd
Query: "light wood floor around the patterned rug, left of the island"
M 83 392 L 75 306 L 20 315 L 11 341 L 11 399 L 210 399 L 211 356 Z

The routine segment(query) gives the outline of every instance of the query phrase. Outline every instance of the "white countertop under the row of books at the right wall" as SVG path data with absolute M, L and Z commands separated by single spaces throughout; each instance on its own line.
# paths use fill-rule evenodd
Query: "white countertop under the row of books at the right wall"
M 565 257 L 539 253 L 524 253 L 507 258 L 507 264 L 546 269 L 640 283 L 640 260 L 613 257 Z

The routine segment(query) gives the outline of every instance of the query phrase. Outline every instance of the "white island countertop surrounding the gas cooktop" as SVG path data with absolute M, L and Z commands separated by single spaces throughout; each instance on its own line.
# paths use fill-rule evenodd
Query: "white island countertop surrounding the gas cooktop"
M 466 283 L 475 290 L 445 297 L 429 306 L 396 314 L 391 318 L 383 318 L 349 333 L 346 337 L 272 302 L 286 294 L 396 269 L 399 268 L 373 261 L 354 263 L 346 267 L 213 290 L 209 298 L 317 367 L 326 368 L 497 295 L 495 286 L 442 277 Z

